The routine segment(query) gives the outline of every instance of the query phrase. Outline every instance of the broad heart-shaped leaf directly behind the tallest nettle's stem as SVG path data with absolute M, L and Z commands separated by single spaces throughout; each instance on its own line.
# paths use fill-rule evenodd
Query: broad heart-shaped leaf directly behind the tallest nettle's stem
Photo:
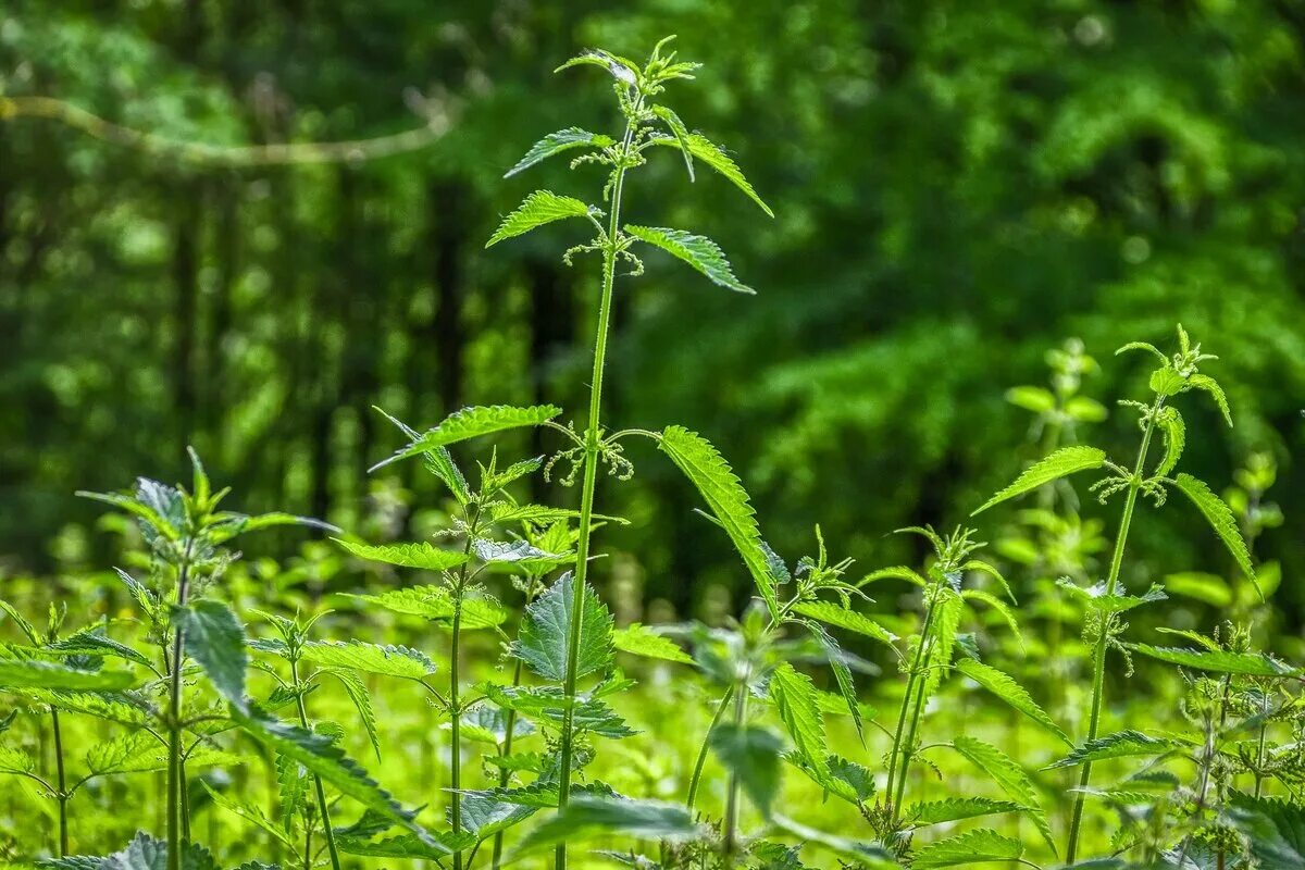
M 510 655 L 555 682 L 566 678 L 574 583 L 574 577 L 568 573 L 531 601 L 517 640 L 508 647 Z M 585 586 L 583 601 L 577 678 L 606 670 L 612 663 L 612 614 L 589 584 Z

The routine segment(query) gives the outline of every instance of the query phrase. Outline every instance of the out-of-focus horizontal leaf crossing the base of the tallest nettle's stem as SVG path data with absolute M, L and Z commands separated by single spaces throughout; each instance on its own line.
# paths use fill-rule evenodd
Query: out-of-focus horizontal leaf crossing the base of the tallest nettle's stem
M 698 826 L 679 803 L 577 796 L 557 815 L 531 830 L 508 861 L 559 843 L 581 843 L 613 832 L 641 840 L 683 840 L 696 836 Z

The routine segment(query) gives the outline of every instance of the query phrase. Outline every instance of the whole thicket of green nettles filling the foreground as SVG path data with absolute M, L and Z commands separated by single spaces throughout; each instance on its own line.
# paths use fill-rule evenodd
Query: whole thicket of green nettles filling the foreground
M 376 470 L 423 463 L 455 505 L 450 526 L 435 541 L 412 544 L 371 544 L 331 530 L 354 557 L 394 566 L 410 580 L 345 600 L 428 623 L 444 635 L 438 643 L 419 650 L 318 637 L 318 626 L 326 625 L 321 612 L 278 613 L 286 608 L 275 600 L 266 610 L 238 613 L 223 583 L 235 558 L 232 540 L 312 520 L 221 510 L 227 493 L 211 488 L 193 454 L 188 488 L 141 479 L 128 494 L 91 494 L 132 515 L 149 547 L 147 571 L 120 571 L 136 609 L 132 637 L 111 637 L 104 623 L 65 630 L 65 605 L 54 608 L 42 627 L 17 607 L 3 605 L 23 638 L 3 647 L 0 690 L 16 710 L 0 732 L 35 729 L 48 733 L 54 746 L 54 768 L 47 770 L 21 741 L 0 743 L 0 771 L 34 781 L 57 807 L 57 853 L 37 856 L 39 863 L 65 870 L 217 867 L 219 858 L 192 824 L 191 805 L 198 794 L 238 814 L 258 830 L 260 841 L 271 844 L 266 854 L 241 865 L 251 869 L 329 863 L 339 870 L 346 862 L 371 866 L 375 860 L 497 869 L 523 858 L 547 862 L 549 852 L 559 870 L 577 854 L 586 862 L 639 869 L 787 869 L 804 861 L 1037 866 L 1030 854 L 1073 863 L 1081 857 L 1088 801 L 1114 810 L 1117 824 L 1109 840 L 1091 839 L 1108 843 L 1108 849 L 1081 866 L 1302 866 L 1305 818 L 1296 800 L 1305 766 L 1296 749 L 1301 716 L 1295 694 L 1301 670 L 1253 648 L 1250 625 L 1262 597 L 1238 596 L 1229 610 L 1235 622 L 1208 637 L 1168 630 L 1176 646 L 1128 637 L 1126 613 L 1165 600 L 1160 584 L 1138 591 L 1124 582 L 1129 532 L 1146 501 L 1159 507 L 1181 493 L 1227 545 L 1238 570 L 1233 583 L 1255 580 L 1246 544 L 1255 527 L 1240 520 L 1255 515 L 1251 502 L 1258 503 L 1263 475 L 1248 476 L 1251 483 L 1238 490 L 1238 517 L 1206 484 L 1177 471 L 1186 442 L 1180 397 L 1203 393 L 1232 421 L 1223 391 L 1202 370 L 1212 357 L 1181 327 L 1172 356 L 1142 343 L 1122 348 L 1156 359 L 1151 398 L 1124 403 L 1141 424 L 1130 464 L 1071 443 L 1077 424 L 1104 416 L 1100 406 L 1078 394 L 1092 365 L 1082 347 L 1053 355 L 1052 390 L 1011 393 L 1013 402 L 1037 413 L 1044 455 L 975 513 L 1037 494 L 1037 506 L 1022 511 L 997 547 L 998 556 L 1027 569 L 1031 582 L 1024 587 L 1034 599 L 1023 605 L 998 570 L 1000 560 L 981 557 L 985 544 L 968 528 L 900 530 L 923 536 L 932 556 L 916 567 L 885 567 L 859 579 L 848 575 L 850 560 L 827 554 L 818 527 L 814 556 L 786 560 L 767 547 L 743 484 L 703 437 L 679 425 L 646 430 L 604 423 L 615 287 L 619 278 L 642 273 L 642 253 L 660 249 L 722 287 L 752 292 L 710 239 L 625 222 L 625 192 L 647 155 L 677 153 L 690 180 L 702 167 L 714 170 L 770 214 L 726 151 L 690 132 L 664 103 L 669 89 L 692 80 L 697 69 L 677 60 L 668 43 L 659 43 L 643 64 L 590 51 L 560 68 L 596 67 L 609 76 L 622 129 L 613 136 L 579 128 L 552 133 L 508 175 L 574 151 L 573 168 L 606 175 L 600 196 L 587 202 L 531 193 L 487 244 L 566 219 L 591 228 L 589 241 L 564 254 L 568 262 L 592 254 L 602 270 L 587 415 L 564 424 L 562 410 L 553 406 L 470 407 L 424 432 L 389 417 L 407 445 Z M 547 460 L 506 463 L 491 453 L 474 471 L 454 455 L 462 442 L 523 427 L 547 428 L 561 446 Z M 750 575 L 757 599 L 737 621 L 720 627 L 615 627 L 590 565 L 599 556 L 596 536 L 604 524 L 624 520 L 599 511 L 596 481 L 604 470 L 617 479 L 633 473 L 625 447 L 637 438 L 650 440 L 692 481 L 706 505 L 703 515 L 719 526 L 722 541 L 733 545 Z M 1103 502 L 1122 500 L 1108 573 L 1096 582 L 1088 565 L 1104 541 L 1091 520 L 1079 518 L 1065 481 L 1083 471 L 1105 472 L 1092 485 Z M 578 507 L 518 501 L 518 481 L 535 473 L 578 484 Z M 1206 600 L 1232 588 L 1219 587 L 1219 578 L 1201 586 L 1188 577 L 1182 593 L 1194 593 L 1194 583 Z M 492 588 L 510 590 L 521 612 Z M 902 595 L 906 612 L 868 616 L 863 604 L 877 590 Z M 112 627 L 116 634 L 120 623 Z M 433 633 L 419 637 L 437 637 Z M 502 642 L 501 667 L 467 660 L 466 650 L 485 647 L 472 644 L 474 635 L 487 634 Z M 840 637 L 878 644 L 897 663 L 899 674 L 883 676 L 874 686 L 895 715 L 881 719 L 861 703 L 853 674 L 873 668 L 844 651 Z M 1032 650 L 1039 667 L 1021 673 L 994 664 L 1015 661 L 1018 655 L 1006 655 L 1014 648 Z M 710 727 L 694 736 L 697 751 L 685 759 L 690 772 L 681 801 L 620 794 L 585 775 L 613 741 L 636 733 L 619 712 L 620 697 L 634 681 L 617 667 L 617 652 L 696 669 L 714 693 Z M 1158 728 L 1167 720 L 1155 716 L 1103 733 L 1109 661 L 1131 663 L 1134 656 L 1180 670 L 1186 691 L 1178 712 L 1189 727 Z M 834 691 L 817 689 L 812 673 Z M 1090 685 L 1083 717 L 1071 710 L 1062 685 L 1079 678 Z M 384 723 L 376 693 L 402 681 L 419 687 L 442 725 L 427 738 L 442 754 L 448 780 L 425 793 L 395 797 L 346 755 L 347 732 L 316 720 L 313 704 L 320 691 L 343 693 L 356 707 L 354 724 L 380 758 Z M 968 733 L 963 717 L 945 715 L 936 703 L 955 683 L 977 687 L 1001 710 L 1009 708 L 1007 724 L 1028 725 L 1041 742 L 1017 732 L 1004 749 Z M 1051 712 L 1035 694 L 1052 698 Z M 82 760 L 73 760 L 61 742 L 61 725 L 70 716 L 100 720 L 107 732 Z M 837 746 L 830 740 L 835 717 L 853 734 Z M 1066 720 L 1073 724 L 1060 724 Z M 1049 757 L 1037 750 L 1041 770 L 1021 758 L 1026 742 L 1053 749 Z M 476 747 L 488 749 L 478 755 Z M 726 777 L 719 806 L 703 800 L 711 757 L 718 762 L 713 770 Z M 257 759 L 266 759 L 274 772 L 266 800 L 240 801 L 196 779 L 198 771 Z M 1095 766 L 1111 760 L 1117 770 L 1118 759 L 1133 762 L 1131 772 L 1105 781 L 1094 777 Z M 967 790 L 930 797 L 937 788 L 924 788 L 921 770 L 944 781 L 959 770 L 977 773 L 989 785 L 988 796 Z M 381 771 L 388 773 L 384 766 Z M 107 857 L 69 854 L 73 839 L 87 845 L 69 813 L 82 789 L 146 772 L 166 784 L 158 798 L 162 830 L 142 831 Z M 814 783 L 823 800 L 850 805 L 863 828 L 835 832 L 795 820 L 783 802 L 786 772 Z M 1061 837 L 1052 822 L 1064 822 L 1062 815 L 1069 818 Z M 1002 822 L 998 830 L 968 822 L 981 817 L 1015 823 Z M 748 819 L 753 830 L 745 830 Z M 958 822 L 959 833 L 953 830 Z M 595 840 L 604 850 L 581 850 Z

